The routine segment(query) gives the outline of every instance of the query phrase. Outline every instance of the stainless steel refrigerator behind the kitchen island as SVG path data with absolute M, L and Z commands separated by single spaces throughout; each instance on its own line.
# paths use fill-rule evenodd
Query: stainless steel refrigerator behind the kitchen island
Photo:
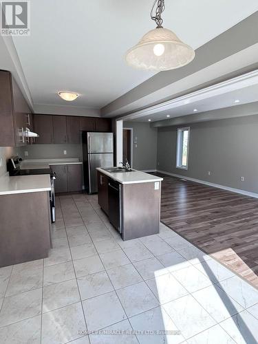
M 98 192 L 96 167 L 110 166 L 114 166 L 113 133 L 83 131 L 83 169 L 88 193 Z

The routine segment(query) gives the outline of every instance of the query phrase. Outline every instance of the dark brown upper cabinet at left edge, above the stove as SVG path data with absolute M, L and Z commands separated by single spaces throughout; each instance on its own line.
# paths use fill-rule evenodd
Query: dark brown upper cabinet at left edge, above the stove
M 23 146 L 30 107 L 10 72 L 0 70 L 0 89 L 0 147 Z

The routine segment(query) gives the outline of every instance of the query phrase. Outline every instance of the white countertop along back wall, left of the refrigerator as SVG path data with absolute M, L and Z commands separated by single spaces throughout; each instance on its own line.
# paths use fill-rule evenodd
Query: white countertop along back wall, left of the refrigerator
M 27 169 L 49 169 L 50 165 L 69 165 L 69 164 L 83 164 L 78 158 L 71 159 L 33 159 L 23 160 L 21 162 L 21 170 Z

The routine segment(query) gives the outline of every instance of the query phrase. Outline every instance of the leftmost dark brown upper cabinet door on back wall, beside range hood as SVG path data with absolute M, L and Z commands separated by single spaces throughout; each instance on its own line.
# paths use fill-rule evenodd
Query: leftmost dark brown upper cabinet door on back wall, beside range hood
M 34 131 L 39 134 L 35 144 L 54 143 L 53 116 L 52 115 L 34 115 Z

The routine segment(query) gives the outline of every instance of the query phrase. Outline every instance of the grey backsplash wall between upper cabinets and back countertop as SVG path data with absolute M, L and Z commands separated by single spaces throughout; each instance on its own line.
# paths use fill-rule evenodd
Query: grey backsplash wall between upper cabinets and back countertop
M 28 156 L 24 155 L 28 151 Z M 63 154 L 67 151 L 67 155 Z M 32 144 L 21 148 L 23 159 L 83 158 L 81 144 Z

